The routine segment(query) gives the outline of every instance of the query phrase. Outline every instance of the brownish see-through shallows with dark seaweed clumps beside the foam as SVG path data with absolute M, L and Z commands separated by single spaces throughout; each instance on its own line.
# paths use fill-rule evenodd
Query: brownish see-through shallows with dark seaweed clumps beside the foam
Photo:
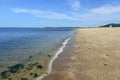
M 66 38 L 67 40 L 69 38 Z M 25 62 L 24 64 L 24 68 L 21 68 L 19 71 L 17 71 L 16 73 L 11 73 L 10 76 L 8 78 L 10 79 L 29 79 L 29 80 L 33 80 L 36 79 L 39 75 L 42 75 L 43 73 L 48 74 L 48 64 L 51 60 L 51 58 L 55 55 L 55 53 L 61 48 L 62 44 L 64 42 L 66 42 L 66 39 L 63 39 L 63 41 L 59 42 L 55 48 L 49 50 L 49 52 L 47 51 L 46 53 L 36 56 L 36 58 L 34 60 L 30 60 L 29 62 Z M 34 65 L 36 64 L 37 65 Z M 17 64 L 16 64 L 17 65 Z M 29 66 L 34 65 L 34 67 L 32 69 L 28 69 Z M 42 68 L 39 69 L 37 68 L 38 65 L 41 65 Z M 52 64 L 51 64 L 52 65 Z M 7 70 L 5 70 L 6 72 Z M 34 77 L 36 75 L 36 77 Z M 3 80 L 7 80 L 8 78 L 1 78 Z

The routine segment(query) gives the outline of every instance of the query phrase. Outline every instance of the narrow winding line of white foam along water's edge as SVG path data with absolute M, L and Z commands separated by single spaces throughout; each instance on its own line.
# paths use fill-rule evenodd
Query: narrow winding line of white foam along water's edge
M 56 52 L 56 54 L 53 56 L 53 58 L 50 60 L 49 64 L 48 64 L 48 71 L 47 73 L 42 74 L 40 77 L 37 77 L 36 80 L 42 80 L 44 77 L 48 76 L 51 71 L 52 71 L 52 65 L 53 62 L 55 61 L 55 59 L 58 57 L 58 55 L 60 53 L 63 52 L 63 49 L 65 48 L 66 44 L 68 43 L 68 41 L 70 40 L 70 38 L 67 38 L 63 43 L 62 43 L 62 47 L 59 48 L 59 50 Z

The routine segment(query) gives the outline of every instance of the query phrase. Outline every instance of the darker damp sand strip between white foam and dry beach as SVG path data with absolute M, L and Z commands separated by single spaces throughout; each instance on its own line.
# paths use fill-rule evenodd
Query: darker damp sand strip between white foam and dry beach
M 66 74 L 63 74 L 62 72 L 67 70 L 67 66 L 63 67 L 63 64 L 69 64 L 68 57 L 73 56 L 74 54 L 72 53 L 73 45 L 75 43 L 75 37 L 76 37 L 76 30 L 75 32 L 70 36 L 70 40 L 66 44 L 66 47 L 64 48 L 63 52 L 59 54 L 57 59 L 53 63 L 53 69 L 51 71 L 51 74 L 48 76 L 44 77 L 42 80 L 63 80 L 64 76 Z M 62 68 L 63 67 L 63 68 Z M 60 74 L 59 74 L 60 73 Z M 62 75 L 63 74 L 63 75 Z M 58 75 L 62 75 L 59 78 Z M 68 79 L 69 80 L 69 79 Z

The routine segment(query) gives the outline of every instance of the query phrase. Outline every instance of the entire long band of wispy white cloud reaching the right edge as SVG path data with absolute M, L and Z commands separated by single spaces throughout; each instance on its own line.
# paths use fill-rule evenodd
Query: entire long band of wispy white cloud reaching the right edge
M 76 20 L 80 23 L 104 23 L 120 20 L 120 6 L 106 5 L 93 9 L 85 10 L 83 13 L 71 11 L 67 13 L 59 13 L 54 11 L 42 11 L 36 9 L 11 9 L 15 13 L 28 13 L 35 17 L 61 19 L 61 20 Z

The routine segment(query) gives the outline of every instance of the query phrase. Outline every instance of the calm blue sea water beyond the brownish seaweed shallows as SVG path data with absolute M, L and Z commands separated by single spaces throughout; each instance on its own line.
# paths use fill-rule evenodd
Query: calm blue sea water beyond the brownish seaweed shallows
M 0 68 L 49 52 L 73 33 L 73 28 L 0 28 Z

